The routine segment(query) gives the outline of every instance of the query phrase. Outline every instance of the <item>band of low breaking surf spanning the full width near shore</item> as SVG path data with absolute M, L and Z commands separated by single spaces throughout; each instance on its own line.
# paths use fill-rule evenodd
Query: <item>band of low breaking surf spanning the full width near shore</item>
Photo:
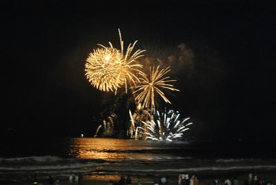
M 161 161 L 117 161 L 71 159 L 57 156 L 0 158 L 0 172 L 24 171 L 233 171 L 244 169 L 276 169 L 275 159 L 189 159 L 175 158 Z

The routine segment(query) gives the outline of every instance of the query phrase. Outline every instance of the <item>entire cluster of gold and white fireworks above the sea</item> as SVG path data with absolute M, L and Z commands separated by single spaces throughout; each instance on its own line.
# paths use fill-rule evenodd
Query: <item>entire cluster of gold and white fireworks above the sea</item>
M 143 57 L 145 50 L 134 50 L 135 41 L 124 49 L 124 41 L 121 39 L 119 30 L 119 40 L 121 48 L 118 50 L 109 42 L 109 46 L 102 46 L 93 50 L 86 59 L 85 75 L 95 88 L 101 91 L 111 91 L 117 93 L 118 88 L 128 86 L 132 90 L 132 99 L 137 110 L 132 114 L 129 110 L 130 121 L 127 130 L 128 137 L 135 139 L 152 139 L 157 141 L 173 141 L 180 139 L 184 131 L 188 130 L 186 120 L 179 120 L 179 113 L 173 110 L 165 111 L 159 115 L 156 108 L 156 101 L 161 97 L 166 103 L 171 104 L 166 96 L 166 91 L 179 91 L 172 85 L 176 80 L 168 77 L 170 66 L 161 68 L 160 66 L 149 66 L 146 74 L 141 69 L 144 65 L 138 59 Z M 103 123 L 97 128 L 103 130 L 101 135 L 111 136 L 114 128 L 114 117 L 103 119 Z

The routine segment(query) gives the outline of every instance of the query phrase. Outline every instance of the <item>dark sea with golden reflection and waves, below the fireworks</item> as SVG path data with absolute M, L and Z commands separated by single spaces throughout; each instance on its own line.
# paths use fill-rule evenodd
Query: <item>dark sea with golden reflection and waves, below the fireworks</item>
M 121 175 L 177 178 L 275 172 L 271 148 L 250 142 L 155 142 L 105 138 L 17 138 L 1 143 L 0 182 L 67 178 L 117 180 Z

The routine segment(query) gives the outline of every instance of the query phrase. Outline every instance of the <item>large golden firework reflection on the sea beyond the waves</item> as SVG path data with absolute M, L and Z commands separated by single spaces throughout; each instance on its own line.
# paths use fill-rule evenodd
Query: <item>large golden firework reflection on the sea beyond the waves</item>
M 68 155 L 79 159 L 103 159 L 116 162 L 161 160 L 170 159 L 172 156 L 158 151 L 168 150 L 174 146 L 171 143 L 161 144 L 133 139 L 74 138 L 71 140 Z

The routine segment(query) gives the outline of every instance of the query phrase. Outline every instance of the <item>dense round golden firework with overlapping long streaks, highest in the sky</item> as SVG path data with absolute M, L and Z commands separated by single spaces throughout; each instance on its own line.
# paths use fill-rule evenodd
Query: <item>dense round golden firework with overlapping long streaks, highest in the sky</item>
M 118 29 L 119 30 L 119 29 Z M 124 54 L 124 41 L 121 39 L 121 32 L 119 30 L 119 39 L 121 44 L 121 51 L 117 50 L 109 42 L 110 47 L 105 47 L 99 44 L 102 48 L 93 50 L 90 53 L 88 59 L 86 59 L 86 77 L 90 84 L 95 88 L 102 91 L 117 92 L 117 88 L 125 85 L 126 91 L 128 83 L 135 84 L 135 81 L 139 81 L 136 73 L 141 73 L 139 68 L 143 68 L 141 64 L 135 64 L 142 52 L 145 50 L 136 50 L 133 54 L 132 51 L 135 48 L 135 43 L 130 43 Z

